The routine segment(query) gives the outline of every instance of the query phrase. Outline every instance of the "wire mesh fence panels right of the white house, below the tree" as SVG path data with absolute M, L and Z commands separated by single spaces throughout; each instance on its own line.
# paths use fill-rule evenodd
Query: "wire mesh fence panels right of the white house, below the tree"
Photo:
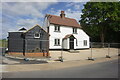
M 119 55 L 120 43 L 90 43 L 90 57 L 89 60 L 93 60 L 98 57 L 111 58 L 112 56 Z

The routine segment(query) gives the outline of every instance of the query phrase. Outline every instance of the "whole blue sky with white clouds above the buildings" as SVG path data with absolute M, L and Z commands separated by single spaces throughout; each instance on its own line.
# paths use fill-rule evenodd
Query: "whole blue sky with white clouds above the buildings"
M 65 11 L 66 17 L 80 20 L 86 2 L 2 2 L 2 37 L 8 31 L 29 29 L 36 24 L 43 25 L 45 14 L 58 15 Z M 0 13 L 1 14 L 1 13 Z M 1 28 L 0 28 L 1 29 Z M 0 36 L 1 36 L 0 35 Z

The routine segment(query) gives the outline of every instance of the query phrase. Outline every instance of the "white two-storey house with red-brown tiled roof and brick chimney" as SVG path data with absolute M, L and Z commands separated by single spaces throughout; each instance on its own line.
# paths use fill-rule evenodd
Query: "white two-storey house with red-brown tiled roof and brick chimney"
M 75 19 L 60 16 L 45 16 L 43 28 L 50 34 L 49 49 L 85 49 L 89 48 L 89 36 L 81 29 Z

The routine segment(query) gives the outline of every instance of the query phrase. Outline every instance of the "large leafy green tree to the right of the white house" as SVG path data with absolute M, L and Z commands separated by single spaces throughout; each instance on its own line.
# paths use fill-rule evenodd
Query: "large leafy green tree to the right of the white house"
M 107 31 L 120 31 L 120 2 L 87 2 L 80 24 L 91 37 L 105 42 Z

